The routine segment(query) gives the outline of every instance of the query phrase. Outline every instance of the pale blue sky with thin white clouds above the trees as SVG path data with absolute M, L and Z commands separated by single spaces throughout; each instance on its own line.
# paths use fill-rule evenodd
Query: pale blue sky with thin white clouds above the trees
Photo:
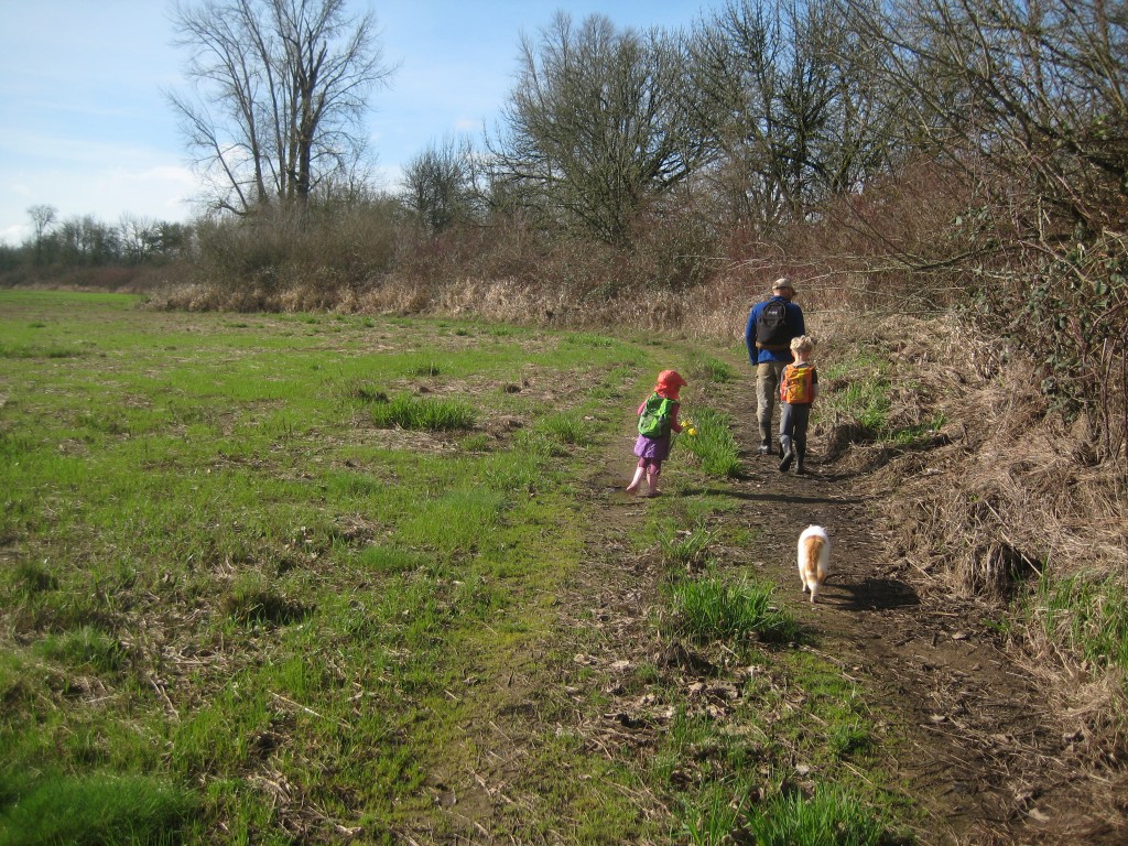
M 492 127 L 517 70 L 521 33 L 557 10 L 631 27 L 688 26 L 722 0 L 397 0 L 376 14 L 398 69 L 369 125 L 382 187 L 400 165 L 456 133 Z M 171 0 L 3 0 L 0 12 L 0 240 L 30 235 L 27 209 L 117 223 L 191 218 L 200 192 L 162 91 L 183 88 Z

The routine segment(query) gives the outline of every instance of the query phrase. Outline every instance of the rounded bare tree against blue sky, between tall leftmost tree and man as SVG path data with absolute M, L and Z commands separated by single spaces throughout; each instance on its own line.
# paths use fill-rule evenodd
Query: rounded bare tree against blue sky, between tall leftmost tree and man
M 505 191 L 616 245 L 647 197 L 684 180 L 703 139 L 682 96 L 685 51 L 658 30 L 619 30 L 557 12 L 522 38 L 520 76 L 491 144 Z

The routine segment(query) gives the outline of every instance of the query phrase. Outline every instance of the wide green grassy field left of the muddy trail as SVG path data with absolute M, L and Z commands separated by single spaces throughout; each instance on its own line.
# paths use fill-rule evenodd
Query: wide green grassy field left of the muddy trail
M 672 728 L 629 754 L 569 728 L 598 688 L 538 698 L 571 662 L 555 606 L 598 519 L 592 462 L 629 444 L 660 369 L 722 385 L 731 351 L 12 291 L 0 337 L 0 846 L 720 844 L 801 830 L 809 805 L 858 832 L 810 843 L 896 827 L 866 710 L 785 644 L 735 647 L 812 688 L 822 733 L 802 742 L 849 763 L 810 803 L 778 775 L 766 732 L 800 729 L 765 717 L 770 673 L 740 694 L 747 733 L 660 690 Z M 712 431 L 680 476 L 723 485 L 725 417 L 696 412 Z M 671 618 L 706 642 L 795 636 L 770 585 L 685 582 L 720 508 L 656 500 L 634 531 L 666 550 Z

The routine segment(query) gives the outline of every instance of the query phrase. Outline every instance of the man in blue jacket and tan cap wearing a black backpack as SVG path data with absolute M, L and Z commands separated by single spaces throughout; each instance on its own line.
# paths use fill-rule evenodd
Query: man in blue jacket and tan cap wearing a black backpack
M 807 334 L 803 310 L 792 302 L 795 289 L 786 276 L 772 285 L 772 297 L 748 315 L 744 345 L 756 368 L 756 422 L 760 428 L 760 455 L 772 455 L 772 414 L 779 394 L 779 376 L 792 362 L 791 340 Z

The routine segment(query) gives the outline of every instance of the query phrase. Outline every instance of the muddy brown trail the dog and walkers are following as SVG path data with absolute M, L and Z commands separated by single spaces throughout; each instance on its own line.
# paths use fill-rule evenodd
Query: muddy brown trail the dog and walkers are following
M 814 645 L 801 647 L 837 667 L 864 693 L 873 713 L 888 721 L 889 735 L 898 742 L 879 748 L 879 755 L 926 814 L 917 841 L 1128 843 L 1128 809 L 1098 799 L 1099 775 L 1085 769 L 1079 739 L 1048 713 L 1045 695 L 987 624 L 986 609 L 918 592 L 911 567 L 885 552 L 889 545 L 874 528 L 879 503 L 856 494 L 860 479 L 820 460 L 817 435 L 808 474 L 779 473 L 778 456 L 748 449 L 757 441 L 754 409 L 737 403 L 723 409 L 737 421 L 743 475 L 717 486 L 739 503 L 720 519 L 738 521 L 756 541 L 750 549 L 715 550 L 716 564 L 775 582 L 778 599 L 813 634 Z M 588 680 L 567 671 L 575 678 L 564 679 L 601 685 L 611 697 L 599 724 L 588 726 L 593 742 L 645 755 L 655 746 L 655 732 L 663 731 L 662 715 L 636 697 L 616 698 L 616 667 L 658 664 L 677 684 L 700 691 L 702 707 L 720 715 L 740 679 L 671 643 L 647 618 L 661 601 L 668 569 L 656 554 L 634 549 L 629 532 L 646 509 L 662 505 L 623 491 L 632 442 L 626 435 L 616 439 L 593 469 L 588 495 L 599 517 L 589 529 L 584 566 L 561 609 L 561 629 L 597 629 L 598 645 L 589 637 L 589 653 L 575 656 Z M 672 490 L 678 472 L 675 456 L 663 495 L 693 496 L 693 490 Z M 799 532 L 811 523 L 825 526 L 834 543 L 831 576 L 813 606 L 801 592 L 794 561 Z

